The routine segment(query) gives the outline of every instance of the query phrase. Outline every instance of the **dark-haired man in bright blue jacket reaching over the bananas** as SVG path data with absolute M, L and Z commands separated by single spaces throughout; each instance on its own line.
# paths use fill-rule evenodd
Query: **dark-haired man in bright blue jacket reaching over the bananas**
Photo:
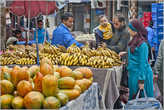
M 77 42 L 70 32 L 73 26 L 73 15 L 66 12 L 61 17 L 61 21 L 62 23 L 53 31 L 52 45 L 68 48 L 75 43 L 78 47 L 82 47 L 83 44 Z

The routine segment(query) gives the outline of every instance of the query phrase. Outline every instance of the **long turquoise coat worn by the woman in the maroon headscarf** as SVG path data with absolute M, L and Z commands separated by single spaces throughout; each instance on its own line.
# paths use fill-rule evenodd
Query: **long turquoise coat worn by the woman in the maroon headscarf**
M 128 86 L 129 99 L 134 98 L 138 92 L 138 81 L 144 80 L 144 89 L 148 97 L 153 97 L 153 72 L 148 63 L 148 46 L 144 42 L 135 48 L 134 53 L 128 49 Z

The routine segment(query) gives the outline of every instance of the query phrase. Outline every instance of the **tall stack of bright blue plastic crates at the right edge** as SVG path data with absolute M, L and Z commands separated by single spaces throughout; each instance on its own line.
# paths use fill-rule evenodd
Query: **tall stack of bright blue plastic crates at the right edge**
M 158 39 L 157 49 L 160 41 L 164 38 L 164 2 L 152 4 L 152 20 L 154 23 L 155 36 Z

